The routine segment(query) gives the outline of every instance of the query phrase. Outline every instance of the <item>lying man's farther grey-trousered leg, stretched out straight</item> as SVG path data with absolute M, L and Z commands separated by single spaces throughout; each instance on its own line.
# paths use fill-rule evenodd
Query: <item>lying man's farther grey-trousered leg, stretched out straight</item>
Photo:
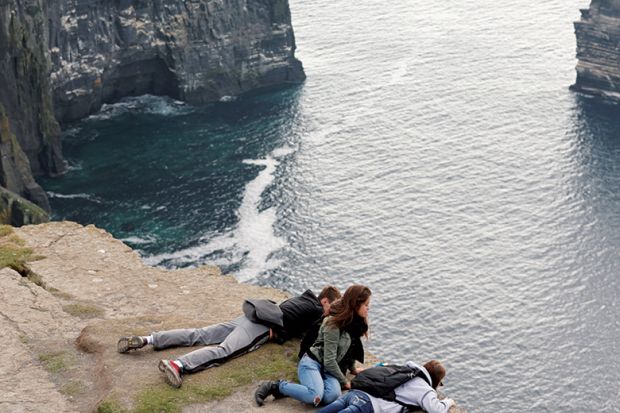
M 213 345 L 223 342 L 245 316 L 204 328 L 183 328 L 157 331 L 152 334 L 153 347 L 162 350 L 168 347 L 191 347 Z

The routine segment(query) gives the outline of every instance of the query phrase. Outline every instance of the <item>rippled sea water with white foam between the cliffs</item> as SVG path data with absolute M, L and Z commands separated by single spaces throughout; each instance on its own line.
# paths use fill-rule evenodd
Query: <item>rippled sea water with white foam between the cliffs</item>
M 369 349 L 470 412 L 620 411 L 620 105 L 570 92 L 585 0 L 291 0 L 298 87 L 69 125 L 54 216 L 166 267 L 364 283 Z

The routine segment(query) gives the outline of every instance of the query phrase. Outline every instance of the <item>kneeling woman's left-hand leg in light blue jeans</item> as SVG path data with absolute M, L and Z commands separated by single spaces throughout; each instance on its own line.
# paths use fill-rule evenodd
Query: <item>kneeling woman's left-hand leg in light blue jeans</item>
M 318 406 L 323 399 L 323 377 L 321 365 L 308 356 L 304 356 L 297 366 L 299 384 L 281 381 L 278 389 L 284 396 L 292 397 L 304 403 Z

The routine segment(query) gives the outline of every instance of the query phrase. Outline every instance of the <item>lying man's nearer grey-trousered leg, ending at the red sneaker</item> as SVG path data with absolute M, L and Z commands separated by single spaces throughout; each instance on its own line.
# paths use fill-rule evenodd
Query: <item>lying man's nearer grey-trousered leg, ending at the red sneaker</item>
M 183 365 L 183 373 L 195 373 L 220 365 L 231 358 L 254 351 L 269 340 L 269 327 L 256 324 L 245 316 L 235 320 L 237 326 L 216 346 L 192 351 L 177 360 Z

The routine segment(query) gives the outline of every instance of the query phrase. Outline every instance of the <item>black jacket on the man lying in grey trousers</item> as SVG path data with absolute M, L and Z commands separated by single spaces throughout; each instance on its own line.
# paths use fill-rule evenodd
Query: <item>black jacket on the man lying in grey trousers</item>
M 279 343 L 303 337 L 312 325 L 323 317 L 323 306 L 310 290 L 282 302 L 280 309 L 284 327 L 275 329 L 275 341 Z

